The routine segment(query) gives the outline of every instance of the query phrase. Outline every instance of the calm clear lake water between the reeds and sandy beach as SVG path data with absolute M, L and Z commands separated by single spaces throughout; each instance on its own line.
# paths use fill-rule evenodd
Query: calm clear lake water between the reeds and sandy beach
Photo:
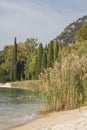
M 31 121 L 40 108 L 39 98 L 29 90 L 0 88 L 0 130 Z

